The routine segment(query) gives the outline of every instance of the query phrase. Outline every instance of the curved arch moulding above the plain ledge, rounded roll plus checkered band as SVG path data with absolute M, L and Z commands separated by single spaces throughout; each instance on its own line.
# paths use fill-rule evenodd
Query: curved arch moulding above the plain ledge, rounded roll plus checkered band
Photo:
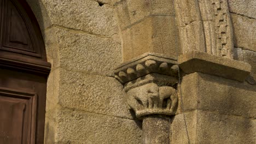
M 175 2 L 184 53 L 194 50 L 233 58 L 233 31 L 226 0 Z

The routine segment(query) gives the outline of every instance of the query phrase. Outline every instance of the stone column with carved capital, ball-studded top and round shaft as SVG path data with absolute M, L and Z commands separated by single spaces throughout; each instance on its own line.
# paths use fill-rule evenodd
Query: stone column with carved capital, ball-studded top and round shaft
M 124 84 L 127 103 L 143 121 L 143 143 L 170 143 L 170 116 L 178 102 L 177 61 L 156 53 L 124 63 L 115 77 Z

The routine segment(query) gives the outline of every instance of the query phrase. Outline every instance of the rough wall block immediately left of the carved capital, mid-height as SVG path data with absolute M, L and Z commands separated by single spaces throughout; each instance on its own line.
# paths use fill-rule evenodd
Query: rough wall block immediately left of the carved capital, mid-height
M 60 69 L 58 104 L 68 109 L 132 119 L 123 86 L 114 77 Z

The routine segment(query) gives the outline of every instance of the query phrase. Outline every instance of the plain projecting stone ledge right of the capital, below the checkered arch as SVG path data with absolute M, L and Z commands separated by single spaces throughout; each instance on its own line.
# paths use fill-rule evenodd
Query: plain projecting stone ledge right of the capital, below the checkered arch
M 199 51 L 191 51 L 179 56 L 178 64 L 186 74 L 201 72 L 240 82 L 245 81 L 252 69 L 248 63 Z

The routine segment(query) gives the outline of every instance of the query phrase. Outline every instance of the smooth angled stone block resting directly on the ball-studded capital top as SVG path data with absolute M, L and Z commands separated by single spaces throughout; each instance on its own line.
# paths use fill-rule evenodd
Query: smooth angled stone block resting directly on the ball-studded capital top
M 161 25 L 160 25 L 161 23 Z M 122 32 L 123 61 L 146 52 L 177 56 L 178 29 L 173 16 L 150 16 Z

